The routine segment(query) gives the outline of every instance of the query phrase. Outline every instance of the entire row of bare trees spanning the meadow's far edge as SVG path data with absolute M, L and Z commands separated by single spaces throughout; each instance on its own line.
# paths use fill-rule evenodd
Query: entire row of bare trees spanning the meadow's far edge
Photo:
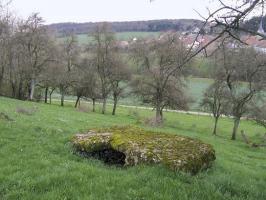
M 2 8 L 2 7 L 1 7 Z M 26 20 L 10 15 L 4 9 L 0 18 L 0 92 L 17 99 L 36 100 L 39 91 L 44 100 L 54 91 L 65 95 L 102 102 L 106 112 L 107 99 L 114 100 L 113 115 L 125 87 L 156 110 L 156 123 L 163 121 L 163 110 L 188 109 L 185 77 L 193 58 L 211 42 L 195 49 L 187 47 L 175 33 L 159 38 L 138 40 L 127 50 L 119 48 L 108 24 L 95 28 L 92 41 L 81 48 L 74 34 L 56 40 L 43 25 L 38 14 Z M 228 34 L 230 36 L 230 33 Z M 228 36 L 227 35 L 227 36 Z M 208 88 L 202 105 L 213 112 L 215 128 L 222 114 L 233 116 L 235 125 L 249 112 L 252 102 L 265 89 L 264 55 L 246 48 L 225 36 L 213 56 L 214 84 Z M 134 63 L 138 67 L 129 67 Z M 37 89 L 37 91 L 36 91 Z M 253 109 L 256 110 L 256 109 Z

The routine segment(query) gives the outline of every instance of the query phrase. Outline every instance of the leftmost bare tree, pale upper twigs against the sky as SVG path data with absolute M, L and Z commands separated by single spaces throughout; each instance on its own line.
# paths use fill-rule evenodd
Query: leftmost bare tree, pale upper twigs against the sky
M 0 68 L 5 80 L 5 95 L 25 99 L 31 72 L 27 53 L 21 44 L 21 23 L 10 15 L 6 18 L 5 25 L 5 29 L 2 29 L 5 34 L 0 39 Z

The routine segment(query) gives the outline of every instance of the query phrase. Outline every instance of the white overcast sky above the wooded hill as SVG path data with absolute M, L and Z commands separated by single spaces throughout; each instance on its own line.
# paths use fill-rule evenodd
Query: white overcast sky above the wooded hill
M 39 12 L 47 24 L 57 22 L 133 21 L 200 18 L 213 0 L 13 0 L 18 16 Z M 194 9 L 194 10 L 193 10 Z

